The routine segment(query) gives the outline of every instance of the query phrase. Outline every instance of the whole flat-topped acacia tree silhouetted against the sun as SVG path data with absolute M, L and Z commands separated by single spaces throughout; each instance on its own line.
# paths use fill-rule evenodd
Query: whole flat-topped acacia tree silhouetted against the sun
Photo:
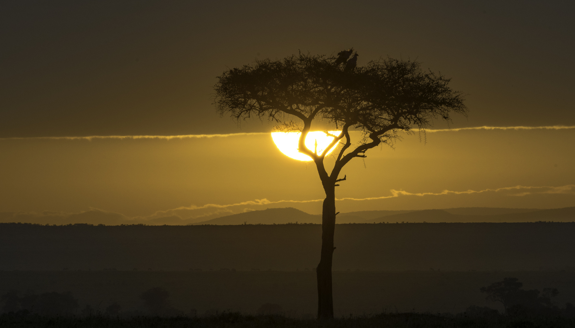
M 283 60 L 256 60 L 218 76 L 214 104 L 220 115 L 235 119 L 268 118 L 277 127 L 301 131 L 298 151 L 311 157 L 325 191 L 322 212 L 321 258 L 317 265 L 317 316 L 333 318 L 332 257 L 335 230 L 335 187 L 344 165 L 381 144 L 392 144 L 399 132 L 428 128 L 433 119 L 450 121 L 465 115 L 461 92 L 450 79 L 425 72 L 410 60 L 380 59 L 363 67 L 339 65 L 333 56 L 302 54 Z M 305 138 L 314 119 L 341 130 L 323 152 L 308 149 Z M 317 122 L 317 121 L 316 121 Z M 314 123 L 315 124 L 315 123 Z M 351 140 L 350 132 L 361 132 Z M 331 172 L 324 159 L 340 144 Z

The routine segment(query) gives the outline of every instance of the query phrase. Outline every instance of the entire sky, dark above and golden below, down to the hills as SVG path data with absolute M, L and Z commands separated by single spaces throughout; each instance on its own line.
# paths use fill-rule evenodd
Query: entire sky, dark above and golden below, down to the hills
M 567 1 L 4 1 L 0 212 L 320 213 L 313 165 L 282 155 L 268 122 L 219 117 L 213 85 L 256 59 L 350 47 L 358 65 L 441 72 L 470 111 L 348 164 L 339 211 L 575 206 L 574 14 Z M 467 129 L 481 126 L 505 129 Z

